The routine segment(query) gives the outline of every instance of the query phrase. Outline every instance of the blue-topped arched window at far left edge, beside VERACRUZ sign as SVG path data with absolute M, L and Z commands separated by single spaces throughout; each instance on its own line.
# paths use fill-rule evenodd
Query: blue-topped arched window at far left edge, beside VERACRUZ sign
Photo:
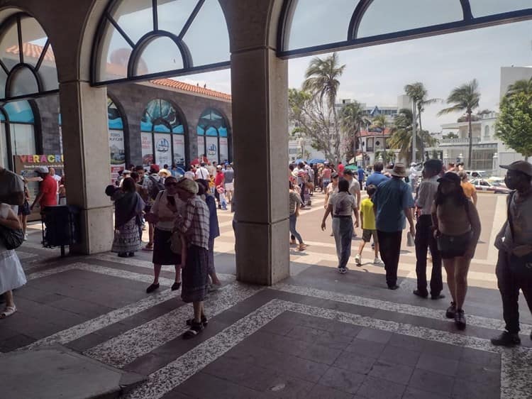
M 22 100 L 0 106 L 0 163 L 4 168 L 14 170 L 13 155 L 39 153 L 34 124 L 33 108 L 29 102 Z

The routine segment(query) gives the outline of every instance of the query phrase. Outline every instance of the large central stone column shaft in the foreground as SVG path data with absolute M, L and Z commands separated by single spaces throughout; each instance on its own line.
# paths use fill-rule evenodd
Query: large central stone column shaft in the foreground
M 245 283 L 289 276 L 287 77 L 267 46 L 231 56 L 236 271 Z

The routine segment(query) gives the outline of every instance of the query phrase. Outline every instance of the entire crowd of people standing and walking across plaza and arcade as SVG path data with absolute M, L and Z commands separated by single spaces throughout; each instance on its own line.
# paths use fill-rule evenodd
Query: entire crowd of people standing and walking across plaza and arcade
M 496 273 L 506 329 L 492 339 L 492 344 L 515 346 L 521 342 L 519 290 L 532 308 L 532 165 L 516 161 L 501 168 L 506 168 L 506 186 L 512 190 L 506 222 L 494 243 L 499 250 Z M 445 298 L 443 266 L 451 296 L 445 316 L 454 319 L 458 329 L 465 329 L 467 273 L 482 229 L 475 187 L 468 182 L 467 173 L 460 170 L 460 165 L 444 168 L 440 160 L 428 160 L 421 170 L 421 182 L 413 185 L 405 182 L 411 173 L 401 163 L 384 170 L 384 165 L 377 162 L 369 175 L 359 170 L 344 168 L 341 163 L 336 167 L 305 163 L 290 166 L 291 243 L 299 244 L 300 251 L 306 249 L 297 231 L 299 209 L 309 207 L 314 192 L 321 191 L 325 195 L 321 229 L 326 230 L 331 215 L 339 273 L 348 271 L 353 236 L 360 226 L 362 241 L 355 265 L 362 264 L 362 250 L 372 241 L 373 263 L 384 264 L 387 288 L 397 290 L 401 239 L 408 222 L 416 249 L 414 295 Z M 25 213 L 37 204 L 44 208 L 58 201 L 57 183 L 50 170 L 38 168 L 35 172 L 40 177 L 40 188 L 30 205 L 23 179 L 0 168 L 0 293 L 5 302 L 0 318 L 16 312 L 13 290 L 26 283 L 11 246 L 12 236 L 17 231 L 23 234 L 19 209 Z M 182 299 L 192 302 L 194 309 L 184 338 L 195 337 L 207 324 L 203 305 L 206 294 L 209 288 L 216 290 L 221 285 L 214 267 L 214 239 L 220 234 L 216 212 L 234 201 L 234 172 L 232 165 L 204 162 L 190 168 L 183 177 L 165 173 L 157 165 L 151 165 L 148 172 L 134 168 L 122 173 L 117 185 L 106 188 L 115 204 L 113 251 L 121 257 L 133 256 L 141 248 L 143 224 L 148 224 L 149 241 L 144 248 L 153 251 L 154 279 L 146 292 L 153 293 L 160 287 L 162 266 L 173 265 L 172 290 L 180 288 Z M 364 188 L 367 197 L 362 200 Z M 426 273 L 429 251 L 430 279 Z

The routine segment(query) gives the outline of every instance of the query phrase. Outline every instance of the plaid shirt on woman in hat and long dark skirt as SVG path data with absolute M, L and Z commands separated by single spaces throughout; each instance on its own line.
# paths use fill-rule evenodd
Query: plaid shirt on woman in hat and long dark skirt
M 179 231 L 187 236 L 189 245 L 209 249 L 209 208 L 200 197 L 187 201 Z

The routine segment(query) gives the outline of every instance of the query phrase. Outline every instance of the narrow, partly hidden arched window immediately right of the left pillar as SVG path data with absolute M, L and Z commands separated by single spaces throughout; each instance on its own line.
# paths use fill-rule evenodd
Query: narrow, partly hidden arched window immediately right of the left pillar
M 121 113 L 109 97 L 107 97 L 107 121 L 109 126 L 111 181 L 114 182 L 118 178 L 118 171 L 126 168 L 126 146 Z

